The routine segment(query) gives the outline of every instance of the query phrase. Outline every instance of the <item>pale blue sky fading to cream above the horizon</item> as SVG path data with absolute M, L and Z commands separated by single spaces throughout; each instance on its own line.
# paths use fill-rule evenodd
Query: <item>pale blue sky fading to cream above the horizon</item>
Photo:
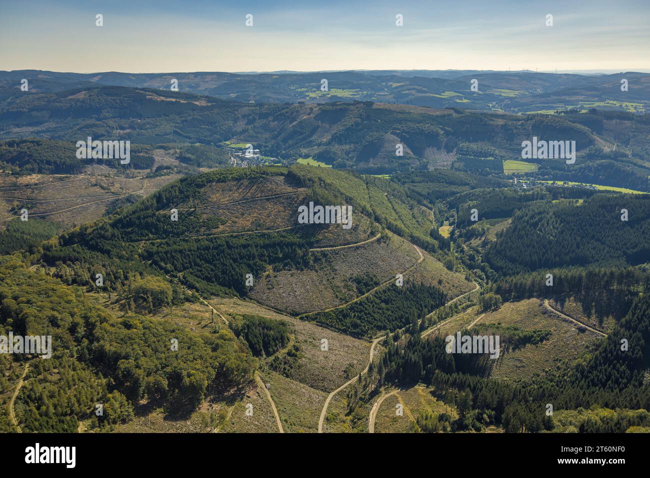
M 650 71 L 650 1 L 0 0 L 15 69 Z

